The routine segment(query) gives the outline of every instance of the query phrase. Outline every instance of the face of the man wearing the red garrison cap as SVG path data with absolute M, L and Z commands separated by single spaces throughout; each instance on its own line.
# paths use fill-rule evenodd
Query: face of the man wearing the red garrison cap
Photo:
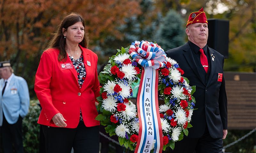
M 186 33 L 191 42 L 207 42 L 208 25 L 206 23 L 194 23 L 188 25 Z

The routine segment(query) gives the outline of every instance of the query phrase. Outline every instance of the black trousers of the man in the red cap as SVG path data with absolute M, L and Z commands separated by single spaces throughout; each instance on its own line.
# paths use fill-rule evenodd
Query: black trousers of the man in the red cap
M 204 134 L 200 138 L 188 138 L 184 135 L 181 141 L 175 142 L 174 150 L 171 149 L 171 153 L 222 153 L 222 149 L 222 138 L 212 138 L 206 126 Z

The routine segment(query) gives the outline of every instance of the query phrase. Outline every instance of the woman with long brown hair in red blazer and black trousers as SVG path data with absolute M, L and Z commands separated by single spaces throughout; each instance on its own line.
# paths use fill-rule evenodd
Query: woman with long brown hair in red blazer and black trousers
M 88 45 L 84 19 L 66 16 L 41 56 L 35 92 L 42 106 L 46 152 L 99 152 L 95 103 L 100 96 L 98 57 Z

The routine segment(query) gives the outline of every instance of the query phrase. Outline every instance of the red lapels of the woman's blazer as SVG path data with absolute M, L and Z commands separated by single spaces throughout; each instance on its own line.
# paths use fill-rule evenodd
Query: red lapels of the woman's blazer
M 79 45 L 79 47 L 80 47 L 80 49 L 83 51 L 83 58 L 84 58 L 84 67 L 85 67 L 85 71 L 86 71 L 86 73 L 88 73 L 88 72 L 92 72 L 92 66 L 89 66 L 88 64 L 87 64 L 87 61 L 89 61 L 90 63 L 93 63 L 92 61 L 91 61 L 91 56 L 90 56 L 90 53 L 89 53 L 89 51 L 86 49 L 86 48 L 84 48 L 84 47 L 82 47 L 81 45 Z M 68 53 L 67 53 L 67 56 L 68 56 Z M 72 61 L 70 60 L 70 58 L 67 58 L 67 60 L 66 61 L 62 61 L 63 63 L 71 63 L 72 64 Z M 73 65 L 73 64 L 72 64 Z M 74 66 L 73 66 L 74 67 Z M 73 76 L 74 76 L 74 79 L 76 79 L 76 82 L 77 82 L 77 86 L 79 87 L 79 84 L 78 84 L 78 78 L 77 78 L 77 72 L 76 72 L 76 70 L 74 69 L 74 68 L 72 68 L 72 69 L 69 69 L 71 72 L 72 72 L 72 74 L 73 74 Z M 87 76 L 86 76 L 87 77 Z M 81 88 L 81 91 L 83 91 L 85 88 L 86 88 L 86 81 L 84 81 L 84 83 L 83 83 L 83 86 L 82 86 L 82 88 Z M 80 87 L 79 87 L 80 88 Z

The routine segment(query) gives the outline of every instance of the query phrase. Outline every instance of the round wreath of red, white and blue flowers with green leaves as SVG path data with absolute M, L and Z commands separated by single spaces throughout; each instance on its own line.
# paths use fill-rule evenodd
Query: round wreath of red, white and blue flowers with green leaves
M 160 46 L 159 46 L 160 47 Z M 141 76 L 142 67 L 129 54 L 129 47 L 117 49 L 116 55 L 109 57 L 108 64 L 100 72 L 99 81 L 103 85 L 98 97 L 96 117 L 106 132 L 117 135 L 120 145 L 134 150 L 138 140 L 139 119 L 137 108 L 131 101 L 132 87 Z M 189 123 L 195 106 L 195 98 L 191 96 L 196 87 L 189 86 L 189 80 L 183 77 L 179 64 L 166 57 L 165 65 L 158 69 L 159 97 L 164 100 L 159 106 L 163 130 L 163 150 L 174 148 L 174 142 L 188 135 Z M 151 148 L 154 149 L 154 145 Z

